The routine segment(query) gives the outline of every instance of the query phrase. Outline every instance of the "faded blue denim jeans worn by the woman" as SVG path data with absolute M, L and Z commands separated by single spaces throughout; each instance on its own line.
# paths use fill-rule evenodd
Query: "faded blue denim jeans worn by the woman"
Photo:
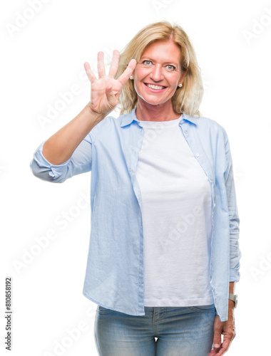
M 214 304 L 145 307 L 137 316 L 98 305 L 94 337 L 100 356 L 208 356 L 214 320 Z

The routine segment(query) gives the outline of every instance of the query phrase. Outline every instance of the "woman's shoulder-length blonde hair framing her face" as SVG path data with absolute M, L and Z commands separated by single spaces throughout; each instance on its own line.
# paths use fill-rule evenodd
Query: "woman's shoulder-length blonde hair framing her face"
M 180 48 L 182 72 L 187 70 L 183 87 L 178 87 L 171 98 L 173 110 L 178 113 L 185 112 L 190 116 L 201 116 L 199 107 L 203 98 L 203 80 L 200 68 L 188 35 L 176 23 L 171 25 L 168 21 L 160 21 L 151 23 L 140 30 L 122 51 L 116 78 L 123 73 L 132 58 L 138 62 L 145 48 L 151 43 L 170 39 Z M 127 80 L 123 85 L 118 102 L 121 115 L 136 108 L 137 101 L 138 96 L 133 86 L 133 80 Z

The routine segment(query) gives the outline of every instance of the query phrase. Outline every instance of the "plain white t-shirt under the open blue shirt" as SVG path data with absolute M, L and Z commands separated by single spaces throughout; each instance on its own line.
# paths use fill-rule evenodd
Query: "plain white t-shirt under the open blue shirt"
M 175 120 L 140 120 L 145 306 L 213 304 L 210 183 Z

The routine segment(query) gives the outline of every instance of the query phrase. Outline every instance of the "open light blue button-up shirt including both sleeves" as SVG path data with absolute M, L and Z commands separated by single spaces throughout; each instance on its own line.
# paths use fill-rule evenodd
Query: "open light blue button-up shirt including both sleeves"
M 36 177 L 55 183 L 91 171 L 91 236 L 83 295 L 129 315 L 145 315 L 143 224 L 135 176 L 144 129 L 138 122 L 136 108 L 117 119 L 107 116 L 66 162 L 49 163 L 42 155 L 44 141 L 30 164 Z M 208 117 L 183 113 L 179 126 L 210 182 L 210 286 L 216 313 L 225 321 L 229 283 L 240 279 L 241 257 L 230 145 L 225 129 Z

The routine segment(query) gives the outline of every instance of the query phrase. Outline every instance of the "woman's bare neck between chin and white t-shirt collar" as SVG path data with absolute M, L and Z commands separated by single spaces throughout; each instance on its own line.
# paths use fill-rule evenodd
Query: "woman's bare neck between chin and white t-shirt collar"
M 180 113 L 173 110 L 171 100 L 163 104 L 152 105 L 138 97 L 136 117 L 143 121 L 169 121 L 178 119 Z

